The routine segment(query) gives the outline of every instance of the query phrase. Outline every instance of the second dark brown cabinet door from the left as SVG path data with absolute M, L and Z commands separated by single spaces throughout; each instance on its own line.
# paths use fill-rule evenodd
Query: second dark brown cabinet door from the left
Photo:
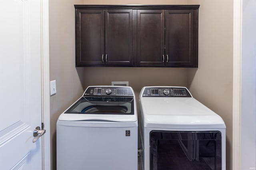
M 133 65 L 132 10 L 105 10 L 106 65 Z

